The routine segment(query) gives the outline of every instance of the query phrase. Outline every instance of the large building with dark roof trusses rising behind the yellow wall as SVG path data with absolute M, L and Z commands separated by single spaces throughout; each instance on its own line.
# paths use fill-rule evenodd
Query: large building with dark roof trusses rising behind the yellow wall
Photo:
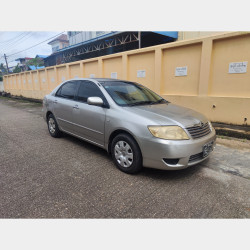
M 53 66 L 176 41 L 177 31 L 69 31 L 69 46 L 45 58 Z

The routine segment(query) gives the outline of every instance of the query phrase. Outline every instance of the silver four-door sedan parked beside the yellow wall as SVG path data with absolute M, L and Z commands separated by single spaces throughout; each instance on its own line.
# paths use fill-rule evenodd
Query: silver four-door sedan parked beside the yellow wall
M 126 173 L 143 166 L 176 170 L 195 165 L 216 142 L 204 115 L 117 79 L 63 82 L 45 96 L 43 114 L 51 136 L 65 132 L 104 148 Z

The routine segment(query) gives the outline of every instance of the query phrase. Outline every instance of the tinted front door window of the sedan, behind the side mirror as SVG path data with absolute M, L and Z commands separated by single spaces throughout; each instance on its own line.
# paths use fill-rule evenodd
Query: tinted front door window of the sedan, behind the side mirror
M 87 102 L 88 97 L 93 96 L 102 98 L 104 102 L 106 101 L 101 90 L 93 82 L 80 81 L 77 100 L 80 102 Z

